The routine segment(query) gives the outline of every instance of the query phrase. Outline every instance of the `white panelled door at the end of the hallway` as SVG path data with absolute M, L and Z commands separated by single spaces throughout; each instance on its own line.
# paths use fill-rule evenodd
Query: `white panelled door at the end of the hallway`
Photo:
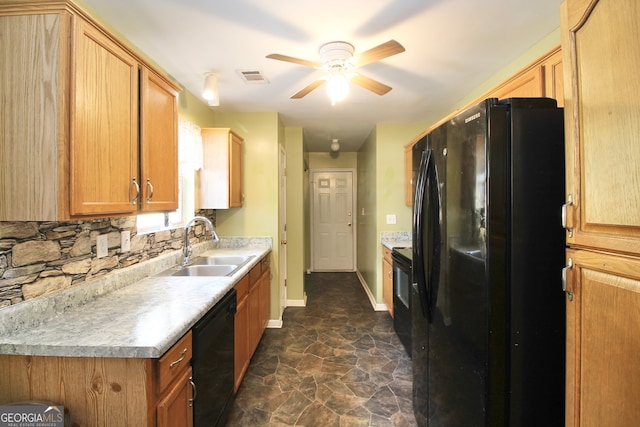
M 353 171 L 312 171 L 311 189 L 313 271 L 353 271 Z

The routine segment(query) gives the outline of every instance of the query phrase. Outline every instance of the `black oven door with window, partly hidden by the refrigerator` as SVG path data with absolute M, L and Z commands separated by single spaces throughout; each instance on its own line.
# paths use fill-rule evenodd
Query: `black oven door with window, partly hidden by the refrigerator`
M 393 259 L 393 327 L 411 357 L 411 261 L 397 252 Z

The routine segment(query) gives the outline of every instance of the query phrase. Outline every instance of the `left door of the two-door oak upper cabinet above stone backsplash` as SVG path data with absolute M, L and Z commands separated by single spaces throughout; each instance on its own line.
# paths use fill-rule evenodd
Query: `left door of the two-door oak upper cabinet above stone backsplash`
M 138 62 L 76 17 L 72 61 L 71 215 L 137 207 Z

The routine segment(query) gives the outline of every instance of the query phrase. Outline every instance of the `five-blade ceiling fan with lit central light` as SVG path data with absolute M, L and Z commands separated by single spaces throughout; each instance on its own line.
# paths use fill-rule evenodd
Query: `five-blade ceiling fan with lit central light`
M 279 53 L 267 55 L 267 58 L 326 70 L 327 76 L 311 82 L 296 92 L 291 99 L 300 99 L 318 86 L 327 82 L 327 95 L 331 99 L 332 104 L 335 105 L 337 101 L 341 101 L 347 96 L 350 81 L 378 95 L 384 95 L 389 92 L 391 90 L 390 86 L 359 74 L 355 69 L 402 53 L 404 50 L 404 47 L 400 43 L 395 40 L 389 40 L 386 43 L 382 43 L 354 56 L 355 49 L 351 43 L 334 41 L 320 46 L 320 62 L 294 58 Z

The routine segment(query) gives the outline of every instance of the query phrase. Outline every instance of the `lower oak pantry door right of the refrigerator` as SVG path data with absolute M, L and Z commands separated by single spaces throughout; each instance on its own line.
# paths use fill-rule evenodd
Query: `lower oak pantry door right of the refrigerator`
M 640 420 L 640 260 L 568 250 L 567 426 Z

